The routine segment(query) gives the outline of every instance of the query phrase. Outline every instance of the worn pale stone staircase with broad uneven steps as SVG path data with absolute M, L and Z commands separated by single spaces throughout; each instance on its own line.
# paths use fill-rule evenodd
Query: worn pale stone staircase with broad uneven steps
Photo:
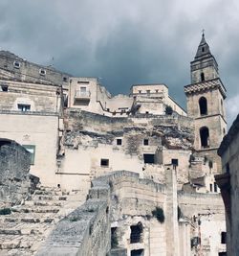
M 21 205 L 1 205 L 11 214 L 0 215 L 0 256 L 33 255 L 57 221 L 80 206 L 86 194 L 39 187 Z

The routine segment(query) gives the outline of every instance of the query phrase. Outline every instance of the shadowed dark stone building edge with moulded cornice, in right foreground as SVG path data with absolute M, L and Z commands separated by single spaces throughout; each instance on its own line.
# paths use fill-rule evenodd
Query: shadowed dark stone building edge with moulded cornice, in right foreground
M 228 255 L 239 253 L 239 220 L 238 220 L 238 155 L 239 155 L 239 116 L 224 137 L 218 154 L 222 157 L 223 174 L 216 175 L 216 181 L 221 189 L 226 209 L 227 221 L 227 251 Z

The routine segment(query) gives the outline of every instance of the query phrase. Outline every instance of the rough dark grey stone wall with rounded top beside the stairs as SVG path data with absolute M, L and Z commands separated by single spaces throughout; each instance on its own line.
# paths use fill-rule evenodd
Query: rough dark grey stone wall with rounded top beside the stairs
M 0 139 L 0 203 L 17 204 L 29 192 L 30 153 L 19 144 Z

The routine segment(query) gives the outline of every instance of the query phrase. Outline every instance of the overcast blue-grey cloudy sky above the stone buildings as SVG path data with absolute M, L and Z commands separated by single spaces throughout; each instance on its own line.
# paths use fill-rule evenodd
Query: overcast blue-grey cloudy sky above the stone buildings
M 238 0 L 0 1 L 0 50 L 98 77 L 113 95 L 163 82 L 184 107 L 202 29 L 228 90 L 230 125 L 239 112 Z

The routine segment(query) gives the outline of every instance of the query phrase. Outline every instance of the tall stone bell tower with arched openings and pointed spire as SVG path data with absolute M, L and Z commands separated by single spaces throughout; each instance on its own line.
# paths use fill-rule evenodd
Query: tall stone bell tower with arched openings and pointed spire
M 226 134 L 226 88 L 220 80 L 218 64 L 211 55 L 203 33 L 191 65 L 191 84 L 185 86 L 187 114 L 195 123 L 195 150 L 217 163 L 217 149 Z

